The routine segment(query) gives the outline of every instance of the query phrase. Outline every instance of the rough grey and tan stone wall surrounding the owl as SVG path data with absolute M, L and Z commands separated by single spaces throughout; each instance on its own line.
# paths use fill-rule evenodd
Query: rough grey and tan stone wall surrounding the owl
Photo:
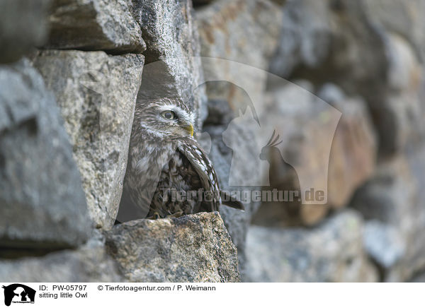
M 422 0 L 1 1 L 0 280 L 421 277 L 424 14 Z M 114 225 L 135 105 L 158 93 L 197 114 L 228 190 L 230 177 L 261 186 L 223 139 L 255 98 L 298 175 L 321 183 L 329 157 L 327 203 Z M 331 143 L 319 101 L 341 113 Z M 254 153 L 258 132 L 233 128 Z M 267 160 L 268 189 L 297 186 L 280 155 Z

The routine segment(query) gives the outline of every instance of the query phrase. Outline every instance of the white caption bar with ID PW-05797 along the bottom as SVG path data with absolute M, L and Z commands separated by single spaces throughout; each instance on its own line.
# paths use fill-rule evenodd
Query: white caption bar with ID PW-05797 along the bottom
M 416 307 L 422 283 L 1 283 L 0 307 Z M 4 306 L 6 304 L 6 306 Z M 30 304 L 24 305 L 24 304 Z M 58 306 L 60 305 L 60 306 Z M 95 306 L 96 305 L 96 306 Z

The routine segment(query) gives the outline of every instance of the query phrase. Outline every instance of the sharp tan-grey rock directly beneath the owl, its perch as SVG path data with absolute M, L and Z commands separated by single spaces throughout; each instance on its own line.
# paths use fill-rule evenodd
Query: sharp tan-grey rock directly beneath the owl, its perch
M 133 220 L 106 232 L 130 282 L 238 282 L 237 251 L 218 213 Z

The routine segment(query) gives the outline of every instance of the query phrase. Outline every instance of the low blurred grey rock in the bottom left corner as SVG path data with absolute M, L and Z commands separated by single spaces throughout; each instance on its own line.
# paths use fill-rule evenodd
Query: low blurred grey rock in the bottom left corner
M 38 258 L 0 261 L 2 281 L 23 283 L 119 283 L 117 264 L 106 254 L 101 237 L 77 250 L 64 250 Z

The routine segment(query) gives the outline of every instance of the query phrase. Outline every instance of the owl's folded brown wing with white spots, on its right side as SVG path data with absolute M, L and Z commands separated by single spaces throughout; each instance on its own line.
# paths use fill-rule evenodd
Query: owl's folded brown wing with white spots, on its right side
M 231 198 L 225 191 L 221 191 L 218 185 L 217 174 L 215 173 L 214 167 L 210 158 L 205 154 L 202 148 L 193 139 L 186 139 L 187 142 L 179 144 L 179 151 L 188 159 L 188 161 L 196 170 L 196 173 L 200 177 L 204 191 L 211 191 L 213 196 L 212 211 L 218 211 L 220 203 L 230 206 L 232 208 L 238 208 L 244 210 L 244 206 L 238 200 Z

